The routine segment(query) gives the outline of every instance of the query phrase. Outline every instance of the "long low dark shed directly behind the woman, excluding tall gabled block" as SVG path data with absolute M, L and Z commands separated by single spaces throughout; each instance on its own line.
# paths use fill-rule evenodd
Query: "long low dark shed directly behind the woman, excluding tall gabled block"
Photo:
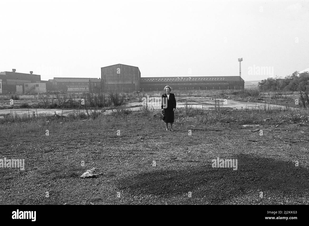
M 140 91 L 163 91 L 165 86 L 170 86 L 172 90 L 243 90 L 244 80 L 239 76 L 143 77 Z

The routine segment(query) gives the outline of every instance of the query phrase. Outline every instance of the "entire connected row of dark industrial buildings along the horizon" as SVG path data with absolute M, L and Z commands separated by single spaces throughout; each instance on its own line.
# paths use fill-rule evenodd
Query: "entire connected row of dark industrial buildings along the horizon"
M 27 73 L 0 73 L 0 93 L 55 92 L 141 92 L 163 91 L 165 86 L 176 90 L 241 90 L 244 80 L 240 76 L 199 77 L 141 77 L 138 67 L 116 64 L 101 68 L 101 78 L 54 77 L 41 81 L 41 76 Z

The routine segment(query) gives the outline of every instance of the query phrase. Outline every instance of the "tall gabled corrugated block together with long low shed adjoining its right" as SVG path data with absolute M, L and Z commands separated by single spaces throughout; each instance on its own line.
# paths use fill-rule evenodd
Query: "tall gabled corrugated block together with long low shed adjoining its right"
M 101 68 L 101 78 L 104 92 L 162 91 L 167 85 L 172 90 L 244 89 L 244 80 L 239 76 L 141 77 L 138 67 L 123 64 Z

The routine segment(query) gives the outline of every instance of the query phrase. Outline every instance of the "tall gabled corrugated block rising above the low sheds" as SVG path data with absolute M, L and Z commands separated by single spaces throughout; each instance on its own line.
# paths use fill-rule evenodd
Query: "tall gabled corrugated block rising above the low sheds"
M 116 64 L 101 68 L 104 92 L 117 90 L 124 92 L 139 91 L 141 72 L 138 67 Z

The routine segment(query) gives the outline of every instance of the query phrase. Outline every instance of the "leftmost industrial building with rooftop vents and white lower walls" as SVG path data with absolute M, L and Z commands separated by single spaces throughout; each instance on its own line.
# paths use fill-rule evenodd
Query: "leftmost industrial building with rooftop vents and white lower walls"
M 0 72 L 2 93 L 46 92 L 45 83 L 41 83 L 41 76 L 30 73 L 19 73 L 16 69 Z M 27 85 L 27 86 L 26 86 Z

